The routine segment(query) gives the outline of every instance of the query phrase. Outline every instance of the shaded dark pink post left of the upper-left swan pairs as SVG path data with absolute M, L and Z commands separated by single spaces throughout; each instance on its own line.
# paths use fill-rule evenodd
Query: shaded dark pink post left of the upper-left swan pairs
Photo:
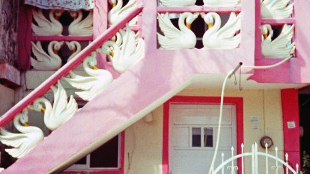
M 20 3 L 18 12 L 18 53 L 16 63 L 18 68 L 25 70 L 30 68 L 32 8 Z

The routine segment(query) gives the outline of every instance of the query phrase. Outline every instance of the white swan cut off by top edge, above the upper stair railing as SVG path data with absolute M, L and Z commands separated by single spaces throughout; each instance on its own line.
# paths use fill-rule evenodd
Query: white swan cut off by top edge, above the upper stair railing
M 133 11 L 137 6 L 136 0 L 129 0 L 129 2 L 124 7 L 122 7 L 122 0 L 109 0 L 109 3 L 112 6 L 112 9 L 108 13 L 108 22 L 110 25 L 113 25 L 119 20 L 125 18 L 129 12 Z M 129 21 L 129 25 L 136 25 L 137 22 L 138 18 L 134 17 L 131 21 Z

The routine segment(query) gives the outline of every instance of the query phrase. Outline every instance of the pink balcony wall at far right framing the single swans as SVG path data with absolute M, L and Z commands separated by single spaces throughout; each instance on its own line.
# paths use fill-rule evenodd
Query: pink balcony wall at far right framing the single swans
M 257 1 L 259 2 L 259 1 Z M 262 20 L 262 23 L 272 22 L 278 25 L 282 23 L 293 23 L 294 42 L 296 42 L 295 57 L 281 66 L 270 69 L 256 69 L 251 80 L 261 83 L 310 83 L 310 19 L 308 17 L 310 4 L 307 1 L 294 1 L 294 17 L 282 20 Z M 256 7 L 256 11 L 259 7 Z M 287 20 L 287 22 L 285 22 Z M 260 26 L 259 26 L 260 27 Z M 260 46 L 260 38 L 256 42 L 256 47 Z M 260 50 L 256 50 L 255 65 L 268 65 L 280 61 L 281 59 L 263 58 Z

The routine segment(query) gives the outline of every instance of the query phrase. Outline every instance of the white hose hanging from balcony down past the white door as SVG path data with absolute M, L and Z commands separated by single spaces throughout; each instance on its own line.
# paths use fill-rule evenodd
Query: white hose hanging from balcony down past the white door
M 289 60 L 291 57 L 285 58 L 280 62 L 277 62 L 275 64 L 272 65 L 266 65 L 266 66 L 240 66 L 240 68 L 252 68 L 252 69 L 266 69 L 266 68 L 271 68 L 271 67 L 275 67 L 278 65 L 281 65 L 282 63 L 286 62 L 287 60 Z M 212 172 L 212 168 L 214 167 L 214 161 L 216 158 L 216 155 L 218 154 L 218 149 L 219 149 L 219 142 L 220 142 L 220 134 L 221 134 L 221 124 L 222 124 L 222 115 L 223 115 L 223 102 L 224 102 L 224 91 L 225 91 L 225 86 L 226 86 L 226 81 L 228 79 L 228 77 L 233 74 L 233 72 L 236 71 L 236 68 L 232 69 L 225 77 L 224 82 L 223 82 L 223 86 L 222 86 L 222 93 L 221 93 L 221 105 L 220 105 L 220 118 L 219 118 L 219 128 L 218 128 L 218 135 L 216 136 L 216 144 L 215 144 L 215 150 L 214 150 L 214 155 L 213 155 L 213 159 L 209 168 L 209 174 L 211 174 Z

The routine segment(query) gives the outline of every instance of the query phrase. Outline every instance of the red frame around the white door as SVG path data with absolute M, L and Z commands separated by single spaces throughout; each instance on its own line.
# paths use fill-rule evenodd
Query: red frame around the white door
M 221 97 L 204 96 L 174 96 L 164 103 L 164 123 L 163 123 L 163 174 L 169 173 L 169 109 L 171 103 L 216 103 L 221 102 Z M 236 105 L 237 117 L 237 153 L 241 153 L 239 145 L 243 143 L 243 98 L 224 97 L 225 104 Z M 238 167 L 241 168 L 241 159 L 238 159 Z M 241 172 L 238 170 L 238 173 Z

